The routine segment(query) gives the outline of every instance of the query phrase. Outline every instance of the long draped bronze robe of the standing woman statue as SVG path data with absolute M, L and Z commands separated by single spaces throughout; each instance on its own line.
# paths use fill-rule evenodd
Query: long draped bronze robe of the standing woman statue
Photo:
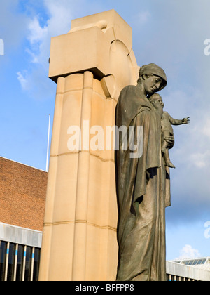
M 169 169 L 161 154 L 160 113 L 138 86 L 126 86 L 116 107 L 116 125 L 143 126 L 143 154 L 116 151 L 118 281 L 165 281 L 165 206 L 170 205 Z M 129 140 L 128 140 L 129 141 Z M 137 138 L 135 138 L 137 143 Z

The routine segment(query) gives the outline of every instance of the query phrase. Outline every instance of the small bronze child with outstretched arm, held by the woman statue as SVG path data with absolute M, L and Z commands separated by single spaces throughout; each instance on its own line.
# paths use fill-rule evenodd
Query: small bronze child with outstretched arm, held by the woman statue
M 164 107 L 164 103 L 162 102 L 162 97 L 160 96 L 160 94 L 154 93 L 148 99 L 150 100 L 150 102 L 153 105 L 154 105 L 154 103 L 160 103 L 162 108 Z M 175 168 L 175 166 L 174 166 L 174 164 L 172 164 L 172 162 L 169 158 L 169 148 L 168 148 L 168 143 L 165 140 L 165 137 L 174 135 L 172 125 L 181 125 L 181 124 L 190 124 L 189 117 L 183 118 L 180 120 L 180 119 L 172 118 L 168 112 L 162 113 L 162 119 L 161 119 L 162 153 L 164 155 L 165 164 L 171 168 Z

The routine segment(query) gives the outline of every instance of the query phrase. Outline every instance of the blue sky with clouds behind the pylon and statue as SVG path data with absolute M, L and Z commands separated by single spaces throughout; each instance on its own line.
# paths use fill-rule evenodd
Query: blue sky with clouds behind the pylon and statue
M 168 84 L 165 110 L 190 125 L 174 126 L 172 207 L 167 259 L 210 256 L 209 0 L 0 0 L 0 155 L 45 170 L 56 84 L 48 78 L 50 38 L 71 20 L 115 9 L 133 30 L 139 66 L 157 63 Z M 1 51 L 0 51 L 1 52 Z M 187 246 L 186 246 L 187 245 Z

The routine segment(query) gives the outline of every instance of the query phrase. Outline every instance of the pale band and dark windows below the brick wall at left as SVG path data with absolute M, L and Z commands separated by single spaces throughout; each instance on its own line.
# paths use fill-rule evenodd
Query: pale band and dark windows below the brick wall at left
M 42 232 L 0 223 L 0 281 L 37 281 Z

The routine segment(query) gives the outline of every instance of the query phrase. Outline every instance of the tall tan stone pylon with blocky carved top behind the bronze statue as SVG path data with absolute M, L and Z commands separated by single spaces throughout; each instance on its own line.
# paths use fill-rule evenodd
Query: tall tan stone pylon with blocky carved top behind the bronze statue
M 57 93 L 39 280 L 116 280 L 110 134 L 119 93 L 137 84 L 138 71 L 132 29 L 114 10 L 73 20 L 67 34 L 51 40 Z

